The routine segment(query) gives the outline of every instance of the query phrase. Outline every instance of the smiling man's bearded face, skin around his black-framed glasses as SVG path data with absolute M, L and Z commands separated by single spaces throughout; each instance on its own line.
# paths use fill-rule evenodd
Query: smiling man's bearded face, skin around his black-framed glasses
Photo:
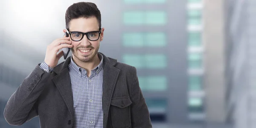
M 96 17 L 89 18 L 78 18 L 70 20 L 69 31 L 74 32 L 91 32 L 99 31 L 99 23 Z M 71 51 L 73 52 L 73 58 L 78 59 L 81 62 L 91 62 L 96 57 L 99 51 L 100 41 L 103 40 L 104 28 L 102 28 L 102 33 L 96 41 L 88 40 L 87 36 L 84 35 L 81 41 L 72 41 L 73 47 Z

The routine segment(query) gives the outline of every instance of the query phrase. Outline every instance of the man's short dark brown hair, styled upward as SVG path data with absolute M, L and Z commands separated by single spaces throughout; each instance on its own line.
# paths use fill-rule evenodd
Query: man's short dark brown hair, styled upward
M 99 28 L 101 28 L 101 14 L 95 3 L 79 2 L 69 6 L 66 11 L 66 29 L 69 29 L 70 20 L 77 18 L 89 18 L 95 16 L 99 22 Z

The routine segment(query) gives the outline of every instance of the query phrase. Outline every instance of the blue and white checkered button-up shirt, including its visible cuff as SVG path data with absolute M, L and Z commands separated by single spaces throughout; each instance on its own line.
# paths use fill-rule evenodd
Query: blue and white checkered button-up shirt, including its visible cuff
M 103 127 L 103 56 L 100 53 L 98 56 L 101 61 L 91 70 L 89 78 L 87 71 L 76 65 L 72 58 L 68 66 L 74 101 L 73 128 Z M 48 73 L 52 71 L 45 62 L 40 67 Z

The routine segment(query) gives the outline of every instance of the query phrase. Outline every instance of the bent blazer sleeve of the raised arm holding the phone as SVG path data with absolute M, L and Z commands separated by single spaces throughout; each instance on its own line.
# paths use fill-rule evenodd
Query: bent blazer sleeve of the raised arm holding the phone
M 4 109 L 4 118 L 10 125 L 22 125 L 38 116 L 34 104 L 44 90 L 44 84 L 46 84 L 49 76 L 50 73 L 42 70 L 38 64 L 23 80 Z

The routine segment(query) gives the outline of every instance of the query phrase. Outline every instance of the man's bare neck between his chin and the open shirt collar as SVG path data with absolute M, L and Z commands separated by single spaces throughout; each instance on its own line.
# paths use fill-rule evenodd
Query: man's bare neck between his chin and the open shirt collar
M 91 70 L 93 70 L 95 67 L 97 67 L 100 63 L 100 59 L 98 57 L 98 54 L 96 54 L 90 61 L 82 62 L 78 58 L 73 57 L 73 61 L 78 65 L 79 67 L 85 69 L 87 73 L 90 73 Z

